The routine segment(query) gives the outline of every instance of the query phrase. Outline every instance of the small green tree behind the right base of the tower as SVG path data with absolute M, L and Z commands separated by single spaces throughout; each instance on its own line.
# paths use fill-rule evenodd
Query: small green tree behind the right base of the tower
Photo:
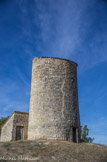
M 91 138 L 88 135 L 89 135 L 89 129 L 87 128 L 87 125 L 84 125 L 84 127 L 81 126 L 81 141 L 92 143 L 94 138 Z

